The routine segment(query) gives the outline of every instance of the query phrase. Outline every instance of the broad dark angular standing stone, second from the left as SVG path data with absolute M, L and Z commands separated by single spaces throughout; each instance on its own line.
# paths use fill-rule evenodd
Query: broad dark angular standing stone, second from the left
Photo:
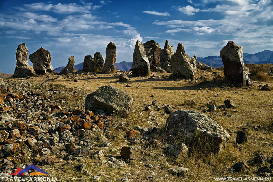
M 50 63 L 50 52 L 42 47 L 29 55 L 29 60 L 33 63 L 33 69 L 38 75 L 45 75 L 54 71 Z

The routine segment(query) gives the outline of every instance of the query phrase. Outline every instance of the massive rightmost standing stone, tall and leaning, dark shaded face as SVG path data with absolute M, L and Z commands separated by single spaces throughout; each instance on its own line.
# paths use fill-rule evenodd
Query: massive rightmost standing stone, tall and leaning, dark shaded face
M 229 41 L 220 51 L 224 64 L 224 75 L 238 85 L 254 86 L 245 69 L 243 47 Z

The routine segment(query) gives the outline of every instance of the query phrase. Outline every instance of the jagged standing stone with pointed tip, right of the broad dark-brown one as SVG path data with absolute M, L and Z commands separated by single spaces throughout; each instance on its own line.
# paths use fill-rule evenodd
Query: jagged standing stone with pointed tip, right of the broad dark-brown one
M 171 56 L 174 55 L 174 46 L 169 45 L 169 42 L 166 40 L 164 49 L 161 50 L 159 58 L 160 63 L 159 67 L 163 68 L 165 71 L 170 69 L 171 66 Z

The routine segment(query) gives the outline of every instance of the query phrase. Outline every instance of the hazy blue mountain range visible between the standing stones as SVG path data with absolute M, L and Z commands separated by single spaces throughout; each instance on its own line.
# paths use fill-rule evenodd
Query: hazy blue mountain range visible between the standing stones
M 266 64 L 266 63 L 272 63 L 273 64 L 273 51 L 264 50 L 262 52 L 257 52 L 255 54 L 248 54 L 243 53 L 244 57 L 244 63 L 245 64 Z M 204 64 L 211 66 L 213 68 L 219 68 L 223 67 L 222 58 L 220 56 L 207 56 L 204 58 L 197 57 L 197 63 L 201 61 Z M 132 68 L 133 62 L 116 62 L 114 65 L 116 66 L 116 69 L 120 71 L 129 71 Z M 60 72 L 64 66 L 61 66 L 59 68 L 55 68 L 55 72 Z M 75 69 L 83 69 L 83 62 L 75 65 Z

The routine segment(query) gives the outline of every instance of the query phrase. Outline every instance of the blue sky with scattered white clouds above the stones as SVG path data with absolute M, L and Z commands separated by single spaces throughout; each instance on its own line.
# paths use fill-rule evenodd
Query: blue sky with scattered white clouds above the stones
M 132 62 L 134 45 L 154 39 L 163 49 L 181 42 L 193 57 L 219 56 L 229 40 L 245 53 L 273 50 L 272 0 L 0 1 L 0 72 L 13 73 L 15 53 L 51 52 L 54 68 L 117 46 L 117 62 Z M 29 61 L 29 65 L 32 63 Z

